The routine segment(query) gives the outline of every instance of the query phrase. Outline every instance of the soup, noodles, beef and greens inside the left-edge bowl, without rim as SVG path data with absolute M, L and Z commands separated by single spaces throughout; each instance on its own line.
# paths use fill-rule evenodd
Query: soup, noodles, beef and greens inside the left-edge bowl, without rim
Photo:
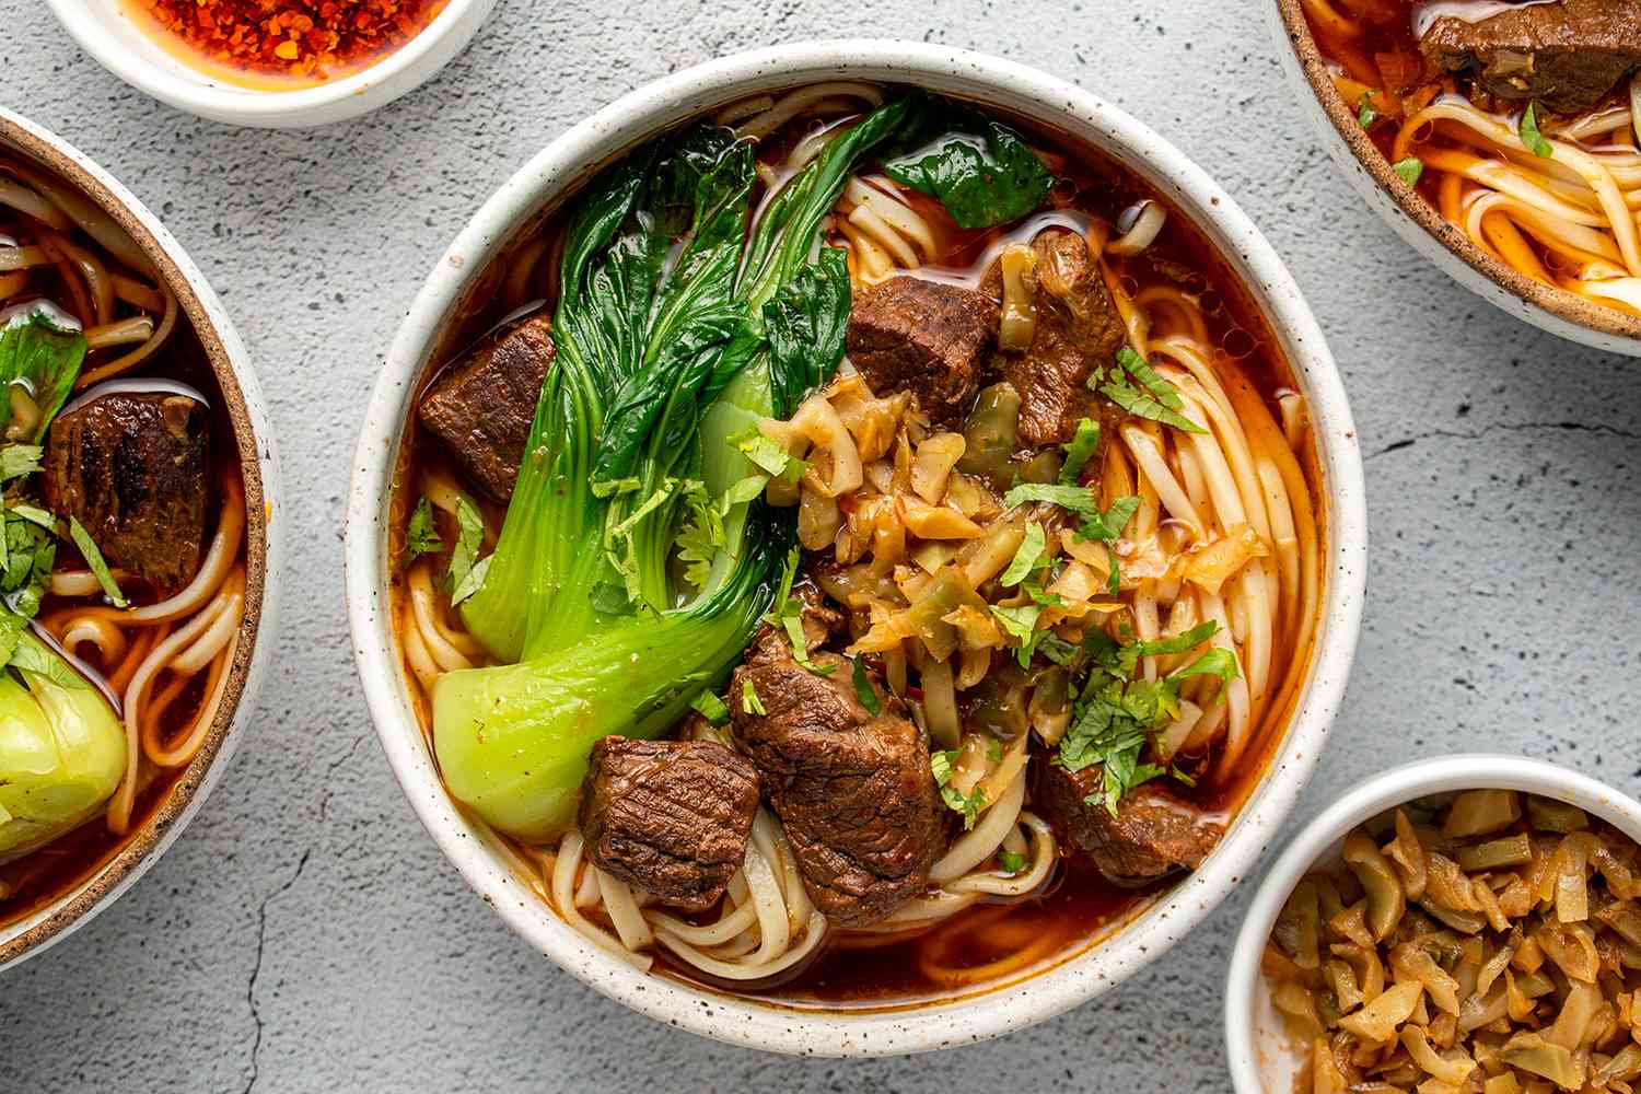
M 131 238 L 0 146 L 0 925 L 108 863 L 223 705 L 245 487 L 205 351 Z

